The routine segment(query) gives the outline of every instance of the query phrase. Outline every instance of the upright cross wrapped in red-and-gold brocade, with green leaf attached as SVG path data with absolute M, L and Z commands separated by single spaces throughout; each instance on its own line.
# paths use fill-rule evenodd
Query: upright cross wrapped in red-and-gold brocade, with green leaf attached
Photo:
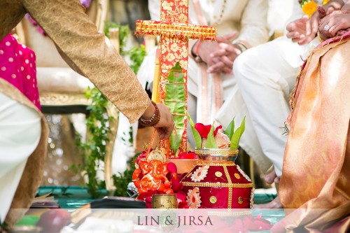
M 173 114 L 174 132 L 160 140 L 160 150 L 172 157 L 187 151 L 188 39 L 215 41 L 216 29 L 188 23 L 188 0 L 160 1 L 160 21 L 137 20 L 135 34 L 160 36 L 152 99 Z

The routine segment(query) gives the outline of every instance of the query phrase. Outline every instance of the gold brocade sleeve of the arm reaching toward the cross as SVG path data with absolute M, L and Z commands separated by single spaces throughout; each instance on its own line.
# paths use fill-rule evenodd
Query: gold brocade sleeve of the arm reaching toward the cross
M 133 71 L 85 14 L 78 0 L 22 0 L 31 17 L 55 42 L 71 68 L 89 78 L 135 122 L 151 100 Z

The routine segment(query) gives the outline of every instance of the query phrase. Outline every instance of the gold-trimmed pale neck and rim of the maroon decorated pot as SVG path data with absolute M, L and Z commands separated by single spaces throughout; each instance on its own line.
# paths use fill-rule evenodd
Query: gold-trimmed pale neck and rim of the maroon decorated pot
M 238 156 L 238 150 L 231 149 L 195 149 L 196 155 L 200 160 L 210 162 L 235 162 Z

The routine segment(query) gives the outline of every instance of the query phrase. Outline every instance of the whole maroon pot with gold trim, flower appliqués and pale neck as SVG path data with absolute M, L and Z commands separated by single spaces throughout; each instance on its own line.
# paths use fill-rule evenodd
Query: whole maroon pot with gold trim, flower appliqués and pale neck
M 196 150 L 200 161 L 181 181 L 190 208 L 251 209 L 253 183 L 235 164 L 238 150 Z

